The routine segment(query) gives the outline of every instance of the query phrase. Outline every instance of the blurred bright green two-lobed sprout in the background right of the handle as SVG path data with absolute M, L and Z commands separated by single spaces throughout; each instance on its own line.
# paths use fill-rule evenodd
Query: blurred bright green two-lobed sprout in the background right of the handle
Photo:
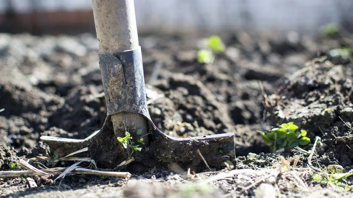
M 199 63 L 213 63 L 215 60 L 214 53 L 224 51 L 226 48 L 219 36 L 211 36 L 208 38 L 206 45 L 207 49 L 201 49 L 197 52 L 197 61 Z

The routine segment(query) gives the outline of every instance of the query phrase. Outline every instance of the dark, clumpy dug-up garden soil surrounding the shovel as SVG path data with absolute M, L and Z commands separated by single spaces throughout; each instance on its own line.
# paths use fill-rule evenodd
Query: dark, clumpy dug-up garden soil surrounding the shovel
M 210 35 L 140 35 L 148 108 L 154 124 L 175 137 L 234 132 L 236 169 L 265 170 L 299 156 L 297 169 L 241 192 L 262 175 L 241 174 L 204 184 L 182 170 L 152 168 L 130 180 L 72 175 L 0 179 L 4 197 L 349 197 L 351 192 L 313 180 L 307 156 L 286 148 L 270 153 L 260 131 L 294 122 L 323 147 L 313 166 L 353 169 L 352 54 L 331 57 L 331 49 L 353 49 L 345 33 L 327 36 L 220 33 L 224 52 L 213 64 L 196 60 Z M 0 34 L 0 170 L 9 162 L 51 156 L 41 135 L 83 139 L 99 130 L 106 106 L 98 43 L 78 36 Z M 320 58 L 317 58 L 320 57 Z M 316 58 L 316 59 L 313 59 Z M 344 122 L 343 122 L 344 121 Z M 312 144 L 306 150 L 311 149 Z M 315 161 L 314 161 L 315 160 Z M 99 165 L 98 165 L 99 168 Z M 218 170 L 217 170 L 218 171 Z M 298 179 L 299 176 L 303 183 Z M 347 185 L 352 180 L 347 179 Z

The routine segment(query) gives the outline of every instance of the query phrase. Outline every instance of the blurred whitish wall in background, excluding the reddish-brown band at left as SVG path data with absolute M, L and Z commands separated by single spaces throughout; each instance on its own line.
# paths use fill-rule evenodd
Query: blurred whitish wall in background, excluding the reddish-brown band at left
M 0 0 L 0 13 L 6 1 Z M 17 12 L 89 10 L 91 0 L 11 0 Z M 139 30 L 279 30 L 314 33 L 353 21 L 353 0 L 134 0 Z

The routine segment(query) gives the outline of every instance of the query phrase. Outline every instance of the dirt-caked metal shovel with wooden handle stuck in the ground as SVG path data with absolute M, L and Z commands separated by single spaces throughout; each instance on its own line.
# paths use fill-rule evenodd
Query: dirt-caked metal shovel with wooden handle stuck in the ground
M 153 124 L 133 0 L 92 0 L 92 5 L 107 117 L 102 128 L 84 140 L 41 136 L 53 154 L 61 157 L 88 147 L 84 156 L 102 167 L 116 168 L 134 160 L 129 167 L 139 171 L 176 166 L 198 172 L 234 159 L 233 133 L 178 138 Z

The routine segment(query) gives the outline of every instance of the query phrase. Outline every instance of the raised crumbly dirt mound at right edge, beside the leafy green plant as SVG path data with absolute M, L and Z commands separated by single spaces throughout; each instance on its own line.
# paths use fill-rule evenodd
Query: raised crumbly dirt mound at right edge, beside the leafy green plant
M 312 139 L 321 137 L 325 153 L 346 169 L 353 168 L 352 72 L 351 67 L 333 65 L 325 58 L 313 61 L 279 94 L 269 97 L 273 107 L 267 117 L 271 125 L 294 122 Z

